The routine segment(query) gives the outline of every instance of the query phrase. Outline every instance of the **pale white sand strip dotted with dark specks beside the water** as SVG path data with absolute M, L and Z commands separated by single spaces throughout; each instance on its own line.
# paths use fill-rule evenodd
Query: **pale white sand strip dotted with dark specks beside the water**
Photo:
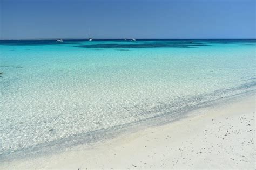
M 0 169 L 255 168 L 255 93 L 176 122 Z

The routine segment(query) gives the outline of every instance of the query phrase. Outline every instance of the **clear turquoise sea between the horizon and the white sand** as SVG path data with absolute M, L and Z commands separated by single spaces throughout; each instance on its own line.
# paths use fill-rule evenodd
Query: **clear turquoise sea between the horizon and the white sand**
M 255 47 L 255 39 L 0 41 L 0 159 L 154 117 L 171 121 L 255 90 Z

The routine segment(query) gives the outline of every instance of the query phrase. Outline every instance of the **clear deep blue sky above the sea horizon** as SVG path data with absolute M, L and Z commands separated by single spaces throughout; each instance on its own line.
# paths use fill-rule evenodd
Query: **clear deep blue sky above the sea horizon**
M 255 0 L 0 0 L 0 38 L 255 38 Z

